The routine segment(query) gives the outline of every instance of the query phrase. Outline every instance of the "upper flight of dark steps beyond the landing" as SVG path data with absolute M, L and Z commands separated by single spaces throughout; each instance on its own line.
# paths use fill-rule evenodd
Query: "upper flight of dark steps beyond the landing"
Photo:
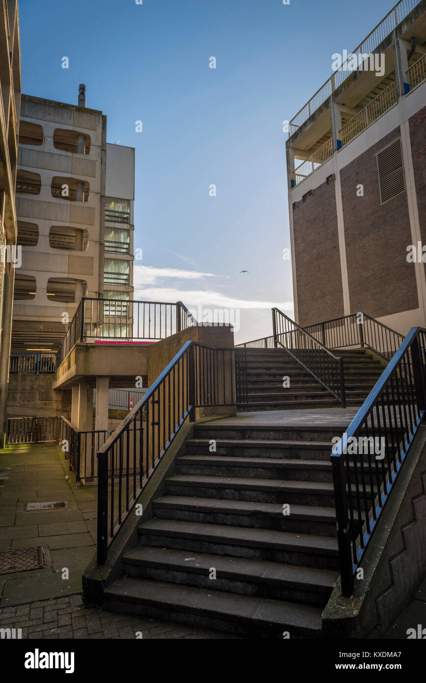
M 340 405 L 321 382 L 285 349 L 244 349 L 248 404 L 238 410 L 333 408 Z M 343 357 L 346 405 L 360 406 L 382 374 L 386 361 L 367 349 L 334 350 Z M 289 387 L 283 378 L 289 377 Z

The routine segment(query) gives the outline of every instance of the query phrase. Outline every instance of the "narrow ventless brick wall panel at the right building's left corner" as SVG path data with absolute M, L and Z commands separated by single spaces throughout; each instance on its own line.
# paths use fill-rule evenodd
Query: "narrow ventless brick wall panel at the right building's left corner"
M 299 324 L 343 316 L 335 181 L 315 189 L 293 210 Z

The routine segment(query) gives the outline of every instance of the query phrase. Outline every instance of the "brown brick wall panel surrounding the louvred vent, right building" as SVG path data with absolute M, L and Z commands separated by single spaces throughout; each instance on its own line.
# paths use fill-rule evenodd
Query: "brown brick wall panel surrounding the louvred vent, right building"
M 350 309 L 373 318 L 418 306 L 414 264 L 406 260 L 412 243 L 407 193 L 380 205 L 375 154 L 398 137 L 395 128 L 340 173 Z M 363 197 L 356 195 L 358 184 Z

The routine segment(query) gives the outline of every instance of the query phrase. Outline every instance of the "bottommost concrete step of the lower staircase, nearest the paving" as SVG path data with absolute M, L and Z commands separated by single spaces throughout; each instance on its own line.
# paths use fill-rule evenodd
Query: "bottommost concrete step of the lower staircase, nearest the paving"
M 173 605 L 173 609 L 171 609 Z M 125 576 L 104 592 L 104 609 L 257 637 L 316 638 L 320 607 Z

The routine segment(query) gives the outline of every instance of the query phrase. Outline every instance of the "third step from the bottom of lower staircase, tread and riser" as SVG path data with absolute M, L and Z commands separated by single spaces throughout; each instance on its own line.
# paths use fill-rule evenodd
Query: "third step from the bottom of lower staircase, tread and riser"
M 331 536 L 171 519 L 145 522 L 138 536 L 142 546 L 339 569 L 337 538 Z

